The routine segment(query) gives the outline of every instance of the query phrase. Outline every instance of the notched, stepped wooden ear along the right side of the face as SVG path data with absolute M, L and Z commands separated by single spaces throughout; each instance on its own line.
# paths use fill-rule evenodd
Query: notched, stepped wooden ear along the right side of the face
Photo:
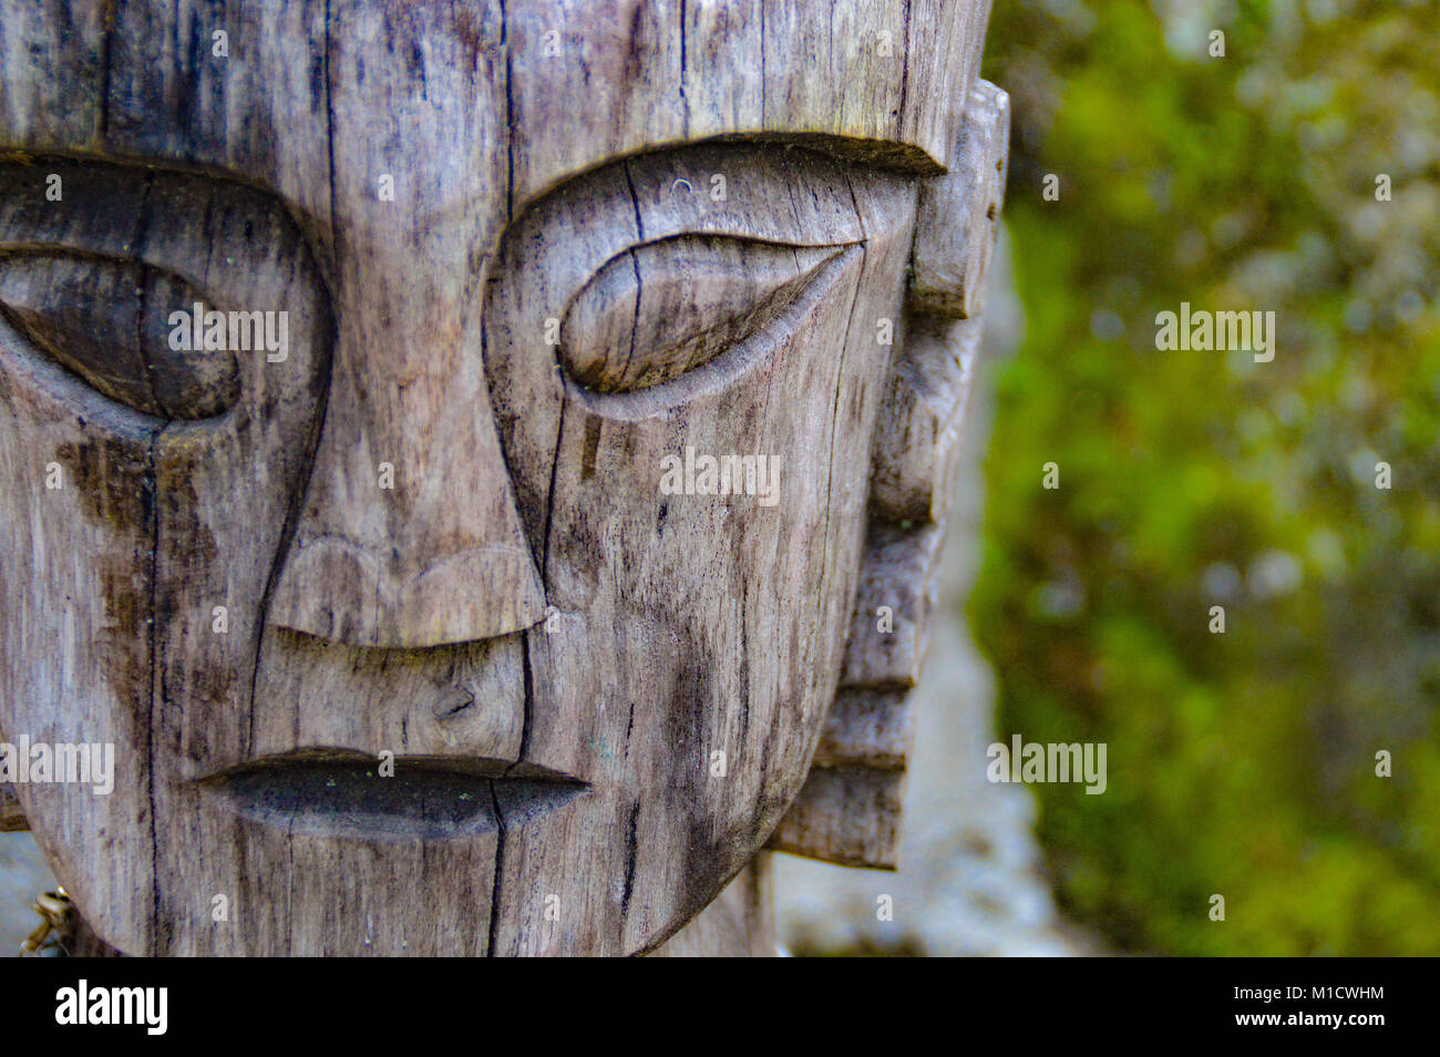
M 845 661 L 811 772 L 768 847 L 841 865 L 899 861 L 912 688 L 935 575 L 981 297 L 1005 192 L 1009 96 L 978 81 L 959 157 L 920 192 L 906 334 L 876 426 L 870 511 Z

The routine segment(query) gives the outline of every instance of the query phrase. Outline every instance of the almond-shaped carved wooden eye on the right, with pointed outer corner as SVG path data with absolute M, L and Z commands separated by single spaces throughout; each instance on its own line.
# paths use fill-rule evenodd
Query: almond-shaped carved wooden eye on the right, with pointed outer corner
M 576 294 L 560 361 L 600 393 L 662 384 L 763 328 L 842 252 L 698 235 L 628 249 Z

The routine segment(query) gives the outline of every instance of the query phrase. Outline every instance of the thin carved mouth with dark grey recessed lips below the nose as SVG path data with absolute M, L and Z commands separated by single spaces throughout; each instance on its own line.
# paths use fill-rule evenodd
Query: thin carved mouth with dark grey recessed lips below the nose
M 386 769 L 389 770 L 389 769 Z M 264 756 L 199 782 L 222 809 L 308 837 L 448 841 L 520 827 L 589 791 L 533 763 L 396 756 L 380 762 L 340 749 Z

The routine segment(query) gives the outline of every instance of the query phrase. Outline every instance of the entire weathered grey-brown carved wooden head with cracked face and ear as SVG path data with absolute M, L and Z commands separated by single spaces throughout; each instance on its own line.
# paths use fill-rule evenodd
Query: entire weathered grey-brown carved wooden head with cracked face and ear
M 760 953 L 766 848 L 894 864 L 988 9 L 0 0 L 0 801 L 101 940 Z

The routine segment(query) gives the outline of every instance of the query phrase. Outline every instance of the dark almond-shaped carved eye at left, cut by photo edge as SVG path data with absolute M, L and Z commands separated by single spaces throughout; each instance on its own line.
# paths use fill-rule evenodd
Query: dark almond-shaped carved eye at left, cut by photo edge
M 148 265 L 0 258 L 0 314 L 10 325 L 95 392 L 156 418 L 210 418 L 239 399 L 233 353 L 170 347 L 171 314 L 190 314 L 196 302 L 207 300 Z

